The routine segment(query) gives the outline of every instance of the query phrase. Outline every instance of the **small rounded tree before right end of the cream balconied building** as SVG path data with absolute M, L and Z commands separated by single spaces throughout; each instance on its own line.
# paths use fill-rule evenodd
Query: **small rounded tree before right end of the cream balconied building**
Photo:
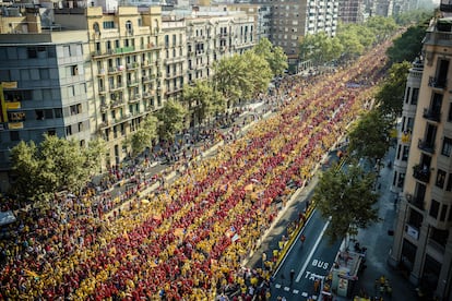
M 168 100 L 157 111 L 158 135 L 160 139 L 174 141 L 175 135 L 183 129 L 187 109 L 175 100 Z

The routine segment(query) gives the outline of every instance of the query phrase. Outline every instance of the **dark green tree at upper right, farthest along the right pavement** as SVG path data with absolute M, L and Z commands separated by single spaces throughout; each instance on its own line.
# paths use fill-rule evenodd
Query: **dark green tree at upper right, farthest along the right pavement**
M 388 48 L 389 61 L 391 63 L 413 62 L 423 49 L 423 38 L 425 35 L 426 26 L 411 26 Z

